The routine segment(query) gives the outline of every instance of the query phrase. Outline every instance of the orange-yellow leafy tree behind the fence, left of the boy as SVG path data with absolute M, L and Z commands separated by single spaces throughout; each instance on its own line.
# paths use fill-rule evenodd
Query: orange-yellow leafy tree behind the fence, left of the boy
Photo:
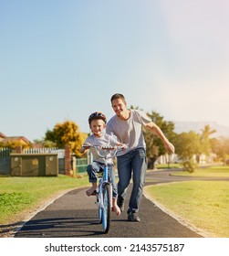
M 80 156 L 79 148 L 82 144 L 82 135 L 78 125 L 72 121 L 57 123 L 52 131 L 47 130 L 45 140 L 55 143 L 60 148 L 64 148 L 68 144 L 71 152 Z

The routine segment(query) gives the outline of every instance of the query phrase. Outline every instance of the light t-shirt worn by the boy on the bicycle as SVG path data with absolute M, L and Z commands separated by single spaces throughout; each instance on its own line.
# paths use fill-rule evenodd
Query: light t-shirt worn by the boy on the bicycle
M 101 137 L 96 137 L 94 134 L 91 134 L 88 136 L 88 138 L 85 140 L 84 142 L 92 144 L 92 145 L 98 145 L 98 146 L 106 146 L 106 145 L 111 145 L 111 146 L 115 146 L 117 144 L 119 144 L 119 142 L 117 141 L 116 138 L 110 136 L 109 134 L 103 133 Z M 100 155 L 104 155 L 104 151 L 103 150 L 99 150 L 99 154 L 98 154 L 98 150 L 99 149 L 95 149 L 94 147 L 90 147 L 89 151 L 90 153 L 93 155 L 93 161 L 105 164 L 105 160 L 104 158 L 100 157 Z M 108 159 L 108 164 L 112 164 L 112 158 Z

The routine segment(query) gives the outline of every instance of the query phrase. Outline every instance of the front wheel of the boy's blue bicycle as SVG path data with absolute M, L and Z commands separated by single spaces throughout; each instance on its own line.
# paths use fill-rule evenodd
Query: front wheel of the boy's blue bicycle
M 108 233 L 111 219 L 111 198 L 110 185 L 105 184 L 103 187 L 103 211 L 102 211 L 102 226 L 105 233 Z

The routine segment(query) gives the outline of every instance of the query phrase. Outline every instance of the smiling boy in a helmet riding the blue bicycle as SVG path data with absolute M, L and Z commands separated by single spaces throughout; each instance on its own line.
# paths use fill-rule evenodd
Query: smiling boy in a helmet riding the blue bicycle
M 89 197 L 89 196 L 95 195 L 96 193 L 96 189 L 97 189 L 96 173 L 98 173 L 101 169 L 103 169 L 103 166 L 104 166 L 104 159 L 98 155 L 95 148 L 89 147 L 89 145 L 90 144 L 99 145 L 99 146 L 120 145 L 123 147 L 123 149 L 127 148 L 127 146 L 125 144 L 120 144 L 115 138 L 113 138 L 109 134 L 103 133 L 104 129 L 106 128 L 107 119 L 102 112 L 93 112 L 92 114 L 90 114 L 90 116 L 88 117 L 88 123 L 89 123 L 89 127 L 92 134 L 88 136 L 85 143 L 80 148 L 79 152 L 83 154 L 86 150 L 89 149 L 93 155 L 93 162 L 90 165 L 88 165 L 88 168 L 87 168 L 89 182 L 91 182 L 92 184 L 92 186 L 86 191 L 86 194 Z M 112 188 L 113 188 L 113 191 L 112 191 L 113 211 L 116 213 L 117 216 L 119 216 L 120 208 L 117 205 L 117 186 L 115 183 L 115 172 L 113 169 L 112 159 L 109 159 L 108 168 L 109 168 L 109 180 L 111 177 Z

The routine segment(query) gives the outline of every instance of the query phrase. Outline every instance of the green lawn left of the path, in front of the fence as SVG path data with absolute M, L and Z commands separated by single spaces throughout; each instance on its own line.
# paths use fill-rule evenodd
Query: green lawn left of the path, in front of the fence
M 85 186 L 88 176 L 0 177 L 0 224 L 18 220 L 18 216 L 60 191 Z

